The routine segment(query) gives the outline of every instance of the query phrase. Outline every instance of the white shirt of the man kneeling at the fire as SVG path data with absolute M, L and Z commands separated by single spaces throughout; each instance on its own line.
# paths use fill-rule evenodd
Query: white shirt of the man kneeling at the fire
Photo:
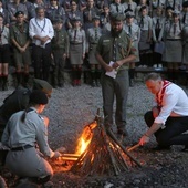
M 185 91 L 178 85 L 171 83 L 165 90 L 161 101 L 161 109 L 159 115 L 155 118 L 155 123 L 164 124 L 167 118 L 188 116 L 188 97 Z

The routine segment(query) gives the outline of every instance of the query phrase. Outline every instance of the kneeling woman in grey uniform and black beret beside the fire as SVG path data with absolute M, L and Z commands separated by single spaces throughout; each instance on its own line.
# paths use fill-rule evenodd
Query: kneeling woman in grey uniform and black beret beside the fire
M 29 108 L 14 113 L 7 123 L 1 142 L 10 148 L 6 166 L 19 177 L 28 177 L 44 184 L 53 175 L 51 165 L 42 157 L 58 158 L 48 144 L 48 126 L 40 115 L 48 104 L 48 96 L 42 91 L 30 95 Z M 35 148 L 39 146 L 39 150 Z M 41 154 L 42 153 L 42 154 Z

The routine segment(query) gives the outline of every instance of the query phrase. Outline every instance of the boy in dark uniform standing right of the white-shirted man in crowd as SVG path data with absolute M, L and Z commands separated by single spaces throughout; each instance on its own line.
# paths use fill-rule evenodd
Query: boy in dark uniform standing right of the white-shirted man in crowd
M 53 86 L 64 86 L 64 65 L 69 53 L 69 36 L 62 30 L 63 20 L 56 19 L 54 22 L 54 38 L 52 39 L 52 58 L 54 61 Z

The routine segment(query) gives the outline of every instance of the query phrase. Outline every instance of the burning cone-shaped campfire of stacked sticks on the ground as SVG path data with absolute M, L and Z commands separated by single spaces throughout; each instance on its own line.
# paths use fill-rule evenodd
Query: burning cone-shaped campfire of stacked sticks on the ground
M 74 161 L 71 171 L 83 176 L 119 175 L 129 167 L 142 166 L 98 115 L 84 127 L 75 154 L 63 154 L 62 159 Z

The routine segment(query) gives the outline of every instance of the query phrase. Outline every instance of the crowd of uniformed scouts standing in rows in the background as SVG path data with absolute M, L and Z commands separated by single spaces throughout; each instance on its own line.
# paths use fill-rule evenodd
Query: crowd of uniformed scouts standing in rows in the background
M 0 0 L 1 90 L 8 90 L 11 54 L 18 86 L 27 86 L 32 65 L 35 79 L 51 79 L 54 87 L 62 87 L 66 64 L 72 67 L 74 86 L 81 85 L 84 64 L 90 65 L 92 86 L 98 86 L 102 67 L 95 51 L 115 14 L 124 15 L 123 29 L 139 54 L 129 63 L 130 86 L 135 64 L 165 65 L 173 81 L 181 65 L 187 69 L 186 0 Z

